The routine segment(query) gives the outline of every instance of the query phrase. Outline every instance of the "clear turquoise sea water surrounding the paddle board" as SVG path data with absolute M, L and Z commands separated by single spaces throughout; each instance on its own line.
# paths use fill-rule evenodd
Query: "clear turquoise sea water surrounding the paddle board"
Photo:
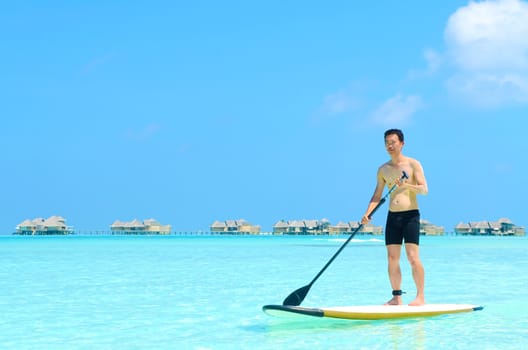
M 528 348 L 528 238 L 422 237 L 424 319 L 272 318 L 346 237 L 0 236 L 1 349 Z M 402 256 L 404 296 L 414 285 Z M 354 238 L 303 306 L 381 304 L 385 247 Z

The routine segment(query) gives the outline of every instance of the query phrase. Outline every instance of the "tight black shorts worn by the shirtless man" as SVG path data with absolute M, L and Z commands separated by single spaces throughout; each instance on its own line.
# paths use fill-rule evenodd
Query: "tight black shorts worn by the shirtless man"
M 420 243 L 420 211 L 389 211 L 385 225 L 385 244 Z

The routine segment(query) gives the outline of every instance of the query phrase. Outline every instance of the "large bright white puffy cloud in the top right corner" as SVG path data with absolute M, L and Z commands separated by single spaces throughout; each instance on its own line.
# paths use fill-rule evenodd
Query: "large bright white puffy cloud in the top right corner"
M 528 102 L 527 2 L 470 2 L 449 18 L 445 40 L 456 95 L 479 105 Z

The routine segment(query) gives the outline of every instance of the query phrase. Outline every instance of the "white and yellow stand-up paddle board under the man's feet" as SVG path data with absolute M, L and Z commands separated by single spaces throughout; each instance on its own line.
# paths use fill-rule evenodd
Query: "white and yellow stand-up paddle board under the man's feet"
M 265 305 L 262 310 L 272 316 L 306 315 L 314 317 L 344 318 L 350 320 L 384 320 L 393 318 L 428 317 L 482 310 L 482 306 L 470 304 L 426 304 L 335 306 L 309 308 L 289 305 Z

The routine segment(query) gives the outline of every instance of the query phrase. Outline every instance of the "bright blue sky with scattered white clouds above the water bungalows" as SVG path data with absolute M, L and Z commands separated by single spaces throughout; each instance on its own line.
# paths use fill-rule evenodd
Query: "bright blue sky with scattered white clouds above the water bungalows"
M 0 38 L 1 233 L 358 220 L 393 127 L 423 218 L 528 225 L 527 1 L 9 2 Z

